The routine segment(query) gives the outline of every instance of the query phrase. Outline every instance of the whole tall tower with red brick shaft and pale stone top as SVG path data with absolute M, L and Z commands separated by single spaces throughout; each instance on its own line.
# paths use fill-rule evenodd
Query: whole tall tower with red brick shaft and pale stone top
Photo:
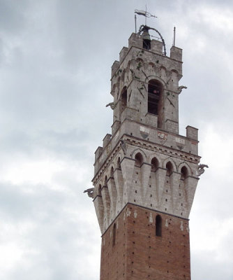
M 112 134 L 87 190 L 102 233 L 100 280 L 190 280 L 188 216 L 204 169 L 197 129 L 179 135 L 182 50 L 168 57 L 149 29 L 112 65 Z

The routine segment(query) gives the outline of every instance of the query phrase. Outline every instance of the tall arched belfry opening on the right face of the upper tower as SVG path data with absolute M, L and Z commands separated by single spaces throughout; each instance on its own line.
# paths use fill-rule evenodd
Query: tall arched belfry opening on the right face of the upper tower
M 158 80 L 150 80 L 148 85 L 148 113 L 159 115 L 160 111 L 160 95 L 162 85 Z

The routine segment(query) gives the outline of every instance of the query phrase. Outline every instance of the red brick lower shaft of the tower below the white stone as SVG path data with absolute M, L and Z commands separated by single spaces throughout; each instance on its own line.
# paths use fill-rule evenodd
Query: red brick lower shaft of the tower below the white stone
M 156 236 L 158 214 L 161 237 Z M 186 219 L 128 204 L 114 223 L 102 238 L 100 280 L 190 280 Z

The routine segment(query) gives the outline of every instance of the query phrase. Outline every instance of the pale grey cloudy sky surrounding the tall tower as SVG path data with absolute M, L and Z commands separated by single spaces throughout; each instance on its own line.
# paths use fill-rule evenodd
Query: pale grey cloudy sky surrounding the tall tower
M 180 133 L 199 128 L 193 280 L 233 279 L 233 2 L 146 1 L 183 48 Z M 132 0 L 0 0 L 0 279 L 98 280 L 93 153 L 110 133 L 110 69 L 135 30 Z M 144 20 L 138 17 L 138 25 Z

